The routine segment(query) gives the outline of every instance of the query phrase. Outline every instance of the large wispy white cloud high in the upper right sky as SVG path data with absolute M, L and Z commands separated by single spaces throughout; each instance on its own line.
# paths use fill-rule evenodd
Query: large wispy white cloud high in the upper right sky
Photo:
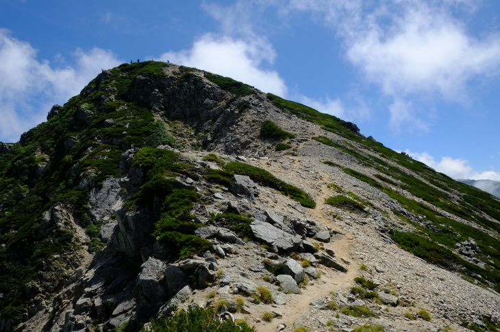
M 336 30 L 347 59 L 393 98 L 393 129 L 427 130 L 410 100 L 467 103 L 471 81 L 500 73 L 500 34 L 476 38 L 464 24 L 480 2 L 290 0 L 288 12 L 310 12 Z

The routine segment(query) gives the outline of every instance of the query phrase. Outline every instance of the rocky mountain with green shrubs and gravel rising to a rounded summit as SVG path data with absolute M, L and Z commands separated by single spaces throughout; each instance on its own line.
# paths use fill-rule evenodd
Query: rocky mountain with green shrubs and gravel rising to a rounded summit
M 0 218 L 0 332 L 195 304 L 258 331 L 499 329 L 499 199 L 195 68 L 104 70 L 0 143 Z

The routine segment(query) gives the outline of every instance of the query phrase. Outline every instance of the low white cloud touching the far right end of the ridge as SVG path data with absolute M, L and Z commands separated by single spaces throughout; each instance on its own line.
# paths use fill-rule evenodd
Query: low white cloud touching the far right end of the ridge
M 446 174 L 454 179 L 471 179 L 471 180 L 494 180 L 500 181 L 500 172 L 497 171 L 476 171 L 468 165 L 468 161 L 460 158 L 451 158 L 449 156 L 441 157 L 440 161 L 434 160 L 434 157 L 427 152 L 418 153 L 406 150 L 412 158 L 421 161 L 436 171 Z

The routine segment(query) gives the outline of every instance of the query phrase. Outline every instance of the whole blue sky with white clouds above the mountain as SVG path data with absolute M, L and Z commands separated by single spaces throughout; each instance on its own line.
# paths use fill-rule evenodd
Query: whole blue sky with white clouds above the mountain
M 453 178 L 500 180 L 498 0 L 0 0 L 0 141 L 101 68 L 152 57 L 352 121 Z

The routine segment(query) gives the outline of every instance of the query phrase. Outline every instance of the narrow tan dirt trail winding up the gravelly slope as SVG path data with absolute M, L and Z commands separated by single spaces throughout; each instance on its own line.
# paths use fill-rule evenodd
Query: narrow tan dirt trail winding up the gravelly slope
M 327 174 L 322 174 L 325 178 L 329 176 Z M 325 198 L 329 197 L 327 194 L 329 189 L 327 184 L 321 186 L 321 191 L 316 199 L 317 205 L 314 210 L 308 210 L 310 217 L 314 220 L 324 223 L 325 225 L 332 227 L 334 230 L 340 230 L 345 236 L 338 238 L 332 238 L 330 243 L 325 243 L 325 249 L 332 249 L 335 253 L 335 258 L 340 260 L 340 258 L 345 258 L 351 262 L 347 265 L 347 273 L 341 273 L 332 268 L 326 268 L 325 266 L 318 265 L 318 270 L 321 271 L 321 278 L 312 280 L 308 286 L 305 286 L 302 290 L 302 294 L 295 296 L 292 303 L 287 303 L 283 307 L 278 307 L 276 310 L 283 314 L 282 320 L 274 319 L 272 322 L 265 324 L 258 324 L 257 330 L 262 332 L 275 332 L 277 324 L 284 323 L 287 327 L 293 325 L 295 320 L 300 320 L 305 314 L 308 314 L 310 309 L 310 303 L 317 299 L 324 299 L 328 296 L 330 292 L 337 292 L 339 290 L 345 290 L 345 288 L 351 286 L 354 277 L 358 276 L 358 264 L 355 260 L 351 258 L 349 254 L 349 247 L 351 241 L 353 240 L 352 234 L 342 230 L 338 227 L 334 221 L 325 217 L 325 210 L 327 210 L 325 205 Z M 341 262 L 342 263 L 342 262 Z M 343 263 L 342 263 L 343 264 Z

